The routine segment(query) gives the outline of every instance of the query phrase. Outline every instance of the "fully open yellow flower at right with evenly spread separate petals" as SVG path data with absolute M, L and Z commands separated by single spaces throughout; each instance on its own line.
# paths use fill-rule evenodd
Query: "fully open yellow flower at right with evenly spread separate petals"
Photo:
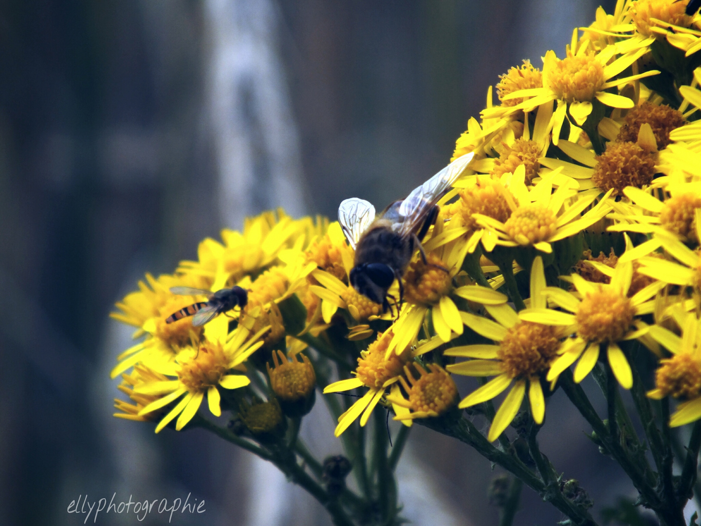
M 560 288 L 547 287 L 544 294 L 554 304 L 566 311 L 546 308 L 528 308 L 519 312 L 523 321 L 543 323 L 568 328 L 576 336 L 566 339 L 558 349 L 559 357 L 554 360 L 547 373 L 547 380 L 554 382 L 557 377 L 576 360 L 575 382 L 581 382 L 594 368 L 599 359 L 600 349 L 606 349 L 608 363 L 618 383 L 625 389 L 633 384 L 632 372 L 625 354 L 617 342 L 637 339 L 644 336 L 647 325 L 636 319 L 654 310 L 654 300 L 648 301 L 659 290 L 656 283 L 649 285 L 633 297 L 628 297 L 633 276 L 631 262 L 616 265 L 611 283 L 590 283 L 578 274 L 570 276 L 582 299 Z

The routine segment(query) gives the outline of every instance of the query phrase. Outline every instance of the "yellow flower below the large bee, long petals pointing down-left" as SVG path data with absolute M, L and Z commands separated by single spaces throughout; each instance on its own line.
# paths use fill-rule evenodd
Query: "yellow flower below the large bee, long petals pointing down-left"
M 334 436 L 341 436 L 341 433 L 346 431 L 348 426 L 353 424 L 361 414 L 360 425 L 365 426 L 370 414 L 372 414 L 372 410 L 385 395 L 388 387 L 391 387 L 393 394 L 398 396 L 399 387 L 397 382 L 399 382 L 402 375 L 404 365 L 411 360 L 411 351 L 407 348 L 400 353 L 386 356 L 392 336 L 391 329 L 386 330 L 386 332 L 378 332 L 377 339 L 369 345 L 367 351 L 360 352 L 358 368 L 354 372 L 355 378 L 339 380 L 339 382 L 334 382 L 325 387 L 324 394 L 341 393 L 362 386 L 369 388 L 365 396 L 358 398 L 348 411 L 341 414 Z M 409 413 L 409 410 L 401 405 L 393 404 L 393 408 L 397 415 Z M 411 420 L 406 420 L 403 423 L 410 426 Z

